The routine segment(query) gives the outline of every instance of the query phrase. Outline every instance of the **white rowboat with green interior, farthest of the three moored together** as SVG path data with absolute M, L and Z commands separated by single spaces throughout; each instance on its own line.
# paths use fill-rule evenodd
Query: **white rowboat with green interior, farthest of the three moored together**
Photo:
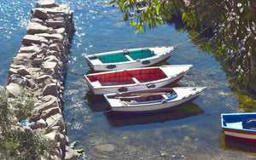
M 168 60 L 174 53 L 175 46 L 123 49 L 100 54 L 85 55 L 85 60 L 92 71 L 115 71 L 124 68 L 154 66 Z

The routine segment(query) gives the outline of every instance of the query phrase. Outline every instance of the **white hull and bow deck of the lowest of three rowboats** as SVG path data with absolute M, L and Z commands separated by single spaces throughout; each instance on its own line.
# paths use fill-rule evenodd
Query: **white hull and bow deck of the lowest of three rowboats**
M 179 106 L 189 100 L 193 100 L 198 97 L 203 91 L 207 89 L 205 87 L 196 88 L 196 87 L 188 87 L 188 88 L 173 88 L 177 93 L 177 98 L 165 101 L 162 100 L 160 102 L 148 102 L 142 103 L 137 105 L 131 105 L 124 103 L 120 99 L 108 99 L 109 95 L 113 94 L 105 94 L 105 99 L 108 101 L 109 106 L 111 106 L 112 111 L 119 111 L 119 112 L 148 112 L 148 111 L 161 111 L 166 110 L 175 106 Z

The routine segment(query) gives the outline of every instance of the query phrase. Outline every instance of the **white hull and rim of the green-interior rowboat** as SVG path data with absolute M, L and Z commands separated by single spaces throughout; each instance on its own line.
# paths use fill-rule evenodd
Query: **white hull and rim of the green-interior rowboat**
M 153 57 L 145 58 L 142 60 L 131 59 L 125 62 L 102 63 L 101 60 L 90 60 L 87 56 L 85 56 L 85 60 L 87 61 L 88 65 L 93 71 L 117 71 L 117 70 L 122 70 L 126 68 L 142 68 L 145 66 L 154 66 L 155 64 L 158 64 L 161 61 L 168 59 L 174 53 L 175 48 L 176 47 L 173 47 L 173 46 L 142 48 L 142 49 L 150 49 L 155 54 Z M 129 51 L 132 51 L 132 50 L 135 50 L 135 49 L 129 49 Z M 102 54 L 114 54 L 118 52 L 121 52 L 121 50 L 106 52 Z M 102 55 L 102 54 L 94 54 L 94 55 Z M 148 61 L 148 63 L 143 63 L 145 61 Z M 108 68 L 108 66 L 115 66 L 115 67 Z

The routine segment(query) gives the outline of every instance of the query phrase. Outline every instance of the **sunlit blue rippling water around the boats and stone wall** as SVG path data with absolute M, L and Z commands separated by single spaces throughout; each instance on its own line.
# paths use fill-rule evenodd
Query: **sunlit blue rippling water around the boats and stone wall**
M 7 82 L 9 65 L 26 35 L 30 10 L 37 1 L 1 1 L 0 9 L 0 84 Z M 135 28 L 119 18 L 119 9 L 100 0 L 57 1 L 74 10 L 76 34 L 69 54 L 65 86 L 64 117 L 70 141 L 78 140 L 87 159 L 247 159 L 255 158 L 256 149 L 236 147 L 239 142 L 226 140 L 220 127 L 224 112 L 253 111 L 253 102 L 237 94 L 222 66 L 212 54 L 189 41 L 189 33 L 164 25 L 154 31 L 135 34 Z M 117 49 L 180 45 L 167 60 L 170 64 L 193 64 L 194 68 L 177 83 L 180 86 L 207 86 L 193 103 L 170 111 L 140 116 L 109 115 L 104 100 L 88 92 L 83 75 L 89 71 L 85 54 Z M 244 101 L 243 101 L 244 100 Z M 230 145 L 231 144 L 231 145 Z M 247 145 L 246 145 L 247 146 Z

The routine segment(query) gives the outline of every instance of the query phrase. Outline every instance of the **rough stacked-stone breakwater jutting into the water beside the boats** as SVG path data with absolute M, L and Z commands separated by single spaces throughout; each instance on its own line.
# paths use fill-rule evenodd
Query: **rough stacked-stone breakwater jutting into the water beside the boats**
M 77 151 L 68 146 L 61 114 L 68 48 L 75 32 L 73 11 L 54 0 L 39 0 L 26 32 L 12 60 L 6 89 L 13 99 L 20 96 L 22 88 L 31 91 L 31 129 L 46 130 L 44 136 L 56 144 L 55 158 L 77 159 Z

